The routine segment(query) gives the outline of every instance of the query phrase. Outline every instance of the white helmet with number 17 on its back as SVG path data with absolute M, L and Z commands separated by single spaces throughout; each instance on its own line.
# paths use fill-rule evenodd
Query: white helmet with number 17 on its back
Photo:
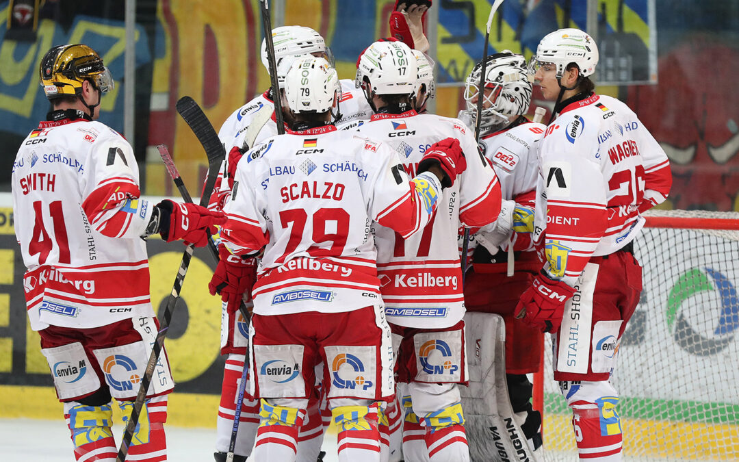
M 416 81 L 416 58 L 402 41 L 375 41 L 357 61 L 355 84 L 367 95 L 412 96 Z

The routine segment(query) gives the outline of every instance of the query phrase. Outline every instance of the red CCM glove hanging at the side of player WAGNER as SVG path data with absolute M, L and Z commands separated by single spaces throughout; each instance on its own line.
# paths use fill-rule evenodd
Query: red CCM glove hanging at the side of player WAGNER
M 537 274 L 531 285 L 519 299 L 514 315 L 542 332 L 556 332 L 562 324 L 565 303 L 575 293 L 575 288 L 562 281 L 555 281 L 545 273 Z

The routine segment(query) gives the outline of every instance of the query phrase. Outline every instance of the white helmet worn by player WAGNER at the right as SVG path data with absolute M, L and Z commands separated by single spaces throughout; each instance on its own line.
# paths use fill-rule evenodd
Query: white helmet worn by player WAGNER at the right
M 557 78 L 562 77 L 568 64 L 577 64 L 580 75 L 596 72 L 598 47 L 590 35 L 579 29 L 560 29 L 542 38 L 537 53 L 531 56 L 528 71 L 533 75 L 542 64 L 554 64 Z

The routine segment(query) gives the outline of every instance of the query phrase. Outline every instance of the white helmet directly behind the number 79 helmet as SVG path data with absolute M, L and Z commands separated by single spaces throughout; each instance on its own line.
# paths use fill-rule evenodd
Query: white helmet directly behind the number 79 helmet
M 277 66 L 277 81 L 285 84 L 285 75 L 292 67 L 293 62 L 310 53 L 324 53 L 325 58 L 333 67 L 333 56 L 326 47 L 326 41 L 321 34 L 310 27 L 282 26 L 272 30 L 272 42 L 275 47 L 275 64 Z M 262 64 L 270 72 L 270 63 L 267 56 L 267 41 L 262 38 Z

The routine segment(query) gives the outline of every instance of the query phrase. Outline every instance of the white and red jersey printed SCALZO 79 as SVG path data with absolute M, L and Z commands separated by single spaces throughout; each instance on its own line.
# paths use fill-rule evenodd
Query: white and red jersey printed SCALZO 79
M 385 143 L 322 126 L 270 138 L 239 162 L 221 239 L 266 245 L 252 295 L 262 315 L 380 303 L 372 221 L 409 237 L 440 199 L 433 174 L 409 180 Z

